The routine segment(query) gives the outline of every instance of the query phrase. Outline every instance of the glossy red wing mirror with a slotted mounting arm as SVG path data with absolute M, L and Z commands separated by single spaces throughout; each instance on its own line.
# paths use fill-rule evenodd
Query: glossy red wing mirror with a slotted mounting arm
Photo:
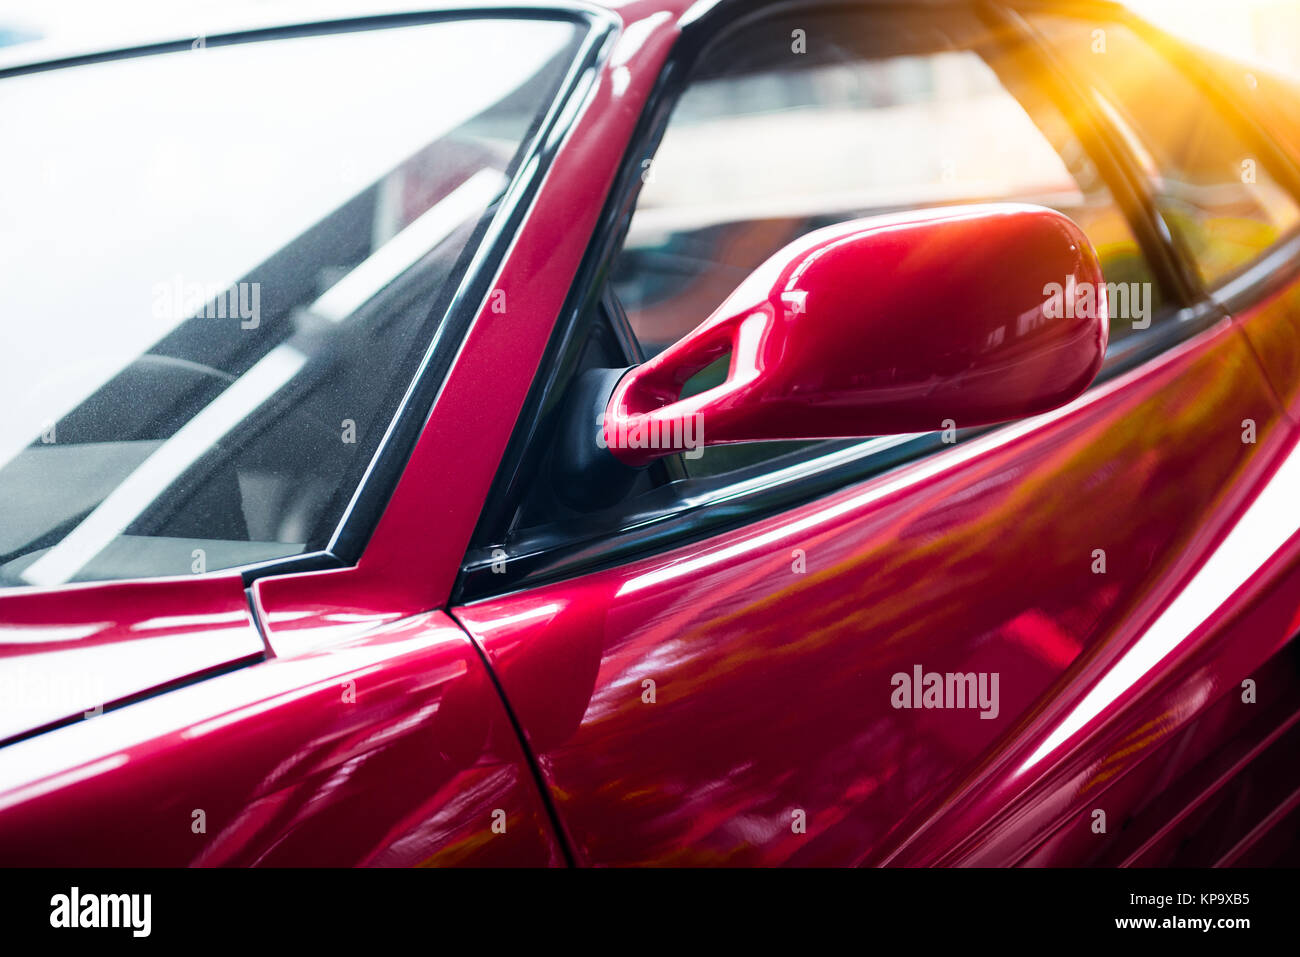
M 624 376 L 604 442 L 645 465 L 693 434 L 722 445 L 1019 419 L 1092 384 L 1106 319 L 1096 252 L 1056 211 L 1004 203 L 853 220 L 786 246 Z M 727 354 L 724 382 L 681 398 Z

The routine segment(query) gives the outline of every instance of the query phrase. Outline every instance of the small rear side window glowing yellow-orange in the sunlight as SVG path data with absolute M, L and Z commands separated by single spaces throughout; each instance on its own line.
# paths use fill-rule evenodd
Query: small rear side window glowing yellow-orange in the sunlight
M 1092 85 L 1206 286 L 1240 272 L 1300 224 L 1295 199 L 1251 142 L 1130 27 L 1056 14 L 1030 21 Z

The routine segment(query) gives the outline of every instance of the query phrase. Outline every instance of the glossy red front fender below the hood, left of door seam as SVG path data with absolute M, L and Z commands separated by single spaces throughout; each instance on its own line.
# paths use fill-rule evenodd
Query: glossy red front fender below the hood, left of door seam
M 562 862 L 482 659 L 441 612 L 0 750 L 6 866 Z

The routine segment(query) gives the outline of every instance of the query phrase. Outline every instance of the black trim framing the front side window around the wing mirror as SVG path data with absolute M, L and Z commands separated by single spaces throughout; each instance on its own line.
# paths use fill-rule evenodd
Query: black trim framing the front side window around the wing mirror
M 1027 30 L 1018 16 L 1019 8 L 1037 8 L 1040 4 L 1036 0 L 1005 3 L 950 0 L 949 5 L 974 9 L 1014 27 L 1035 42 L 1036 52 L 1058 74 L 1058 82 L 1067 83 L 1083 104 L 1092 126 L 1087 133 L 1101 140 L 1093 146 L 1104 151 L 1104 163 L 1108 168 L 1102 173 L 1108 186 L 1113 191 L 1117 186 L 1123 186 L 1130 192 L 1128 196 L 1115 195 L 1115 202 L 1122 205 L 1135 231 L 1139 229 L 1145 231 L 1145 237 L 1139 235 L 1144 254 L 1150 255 L 1148 243 L 1154 243 L 1154 250 L 1164 259 L 1164 263 L 1153 263 L 1153 268 L 1157 269 L 1156 278 L 1164 283 L 1164 291 L 1170 300 L 1165 317 L 1158 324 L 1153 322 L 1152 329 L 1141 335 L 1119 342 L 1108 354 L 1106 365 L 1093 387 L 1226 321 L 1228 313 L 1223 303 L 1201 287 L 1192 264 L 1176 248 L 1171 231 L 1154 207 L 1140 165 L 1136 157 L 1130 155 L 1121 134 L 1091 101 L 1082 78 L 1066 73 L 1054 57 L 1048 61 L 1045 55 L 1049 51 L 1036 33 Z M 772 0 L 744 7 L 737 0 L 719 3 L 698 20 L 682 26 L 681 35 L 668 55 L 625 151 L 619 177 L 611 187 L 584 264 L 575 277 L 516 430 L 511 436 L 488 505 L 452 589 L 452 605 L 485 601 L 577 577 L 699 541 L 953 447 L 942 443 L 937 433 L 818 443 L 814 449 L 793 452 L 789 458 L 796 460 L 789 464 L 783 464 L 783 459 L 770 459 L 723 476 L 672 481 L 641 495 L 634 503 L 623 503 L 614 510 L 594 512 L 582 519 L 529 529 L 524 537 L 512 536 L 514 529 L 510 527 L 515 503 L 520 501 L 521 489 L 536 475 L 542 451 L 533 439 L 556 413 L 564 386 L 577 363 L 586 324 L 594 321 L 602 300 L 615 326 L 620 321 L 627 322 L 621 307 L 616 302 L 608 302 L 612 298 L 606 283 L 610 263 L 621 247 L 630 222 L 642 164 L 653 159 L 672 108 L 685 90 L 698 56 L 723 33 L 745 29 L 757 20 L 781 12 L 800 9 L 835 12 L 863 7 L 872 10 L 916 10 L 914 4 L 893 0 Z M 1095 10 L 1098 17 L 1122 18 L 1126 23 L 1135 20 L 1127 10 L 1106 0 L 1083 0 L 1070 7 Z M 1262 130 L 1260 135 L 1271 144 Z M 1135 199 L 1136 208 L 1134 208 Z M 1274 261 L 1277 257 L 1266 255 L 1264 260 L 1257 261 L 1258 269 L 1252 268 L 1248 272 L 1254 274 L 1262 270 L 1265 260 Z M 629 352 L 629 361 L 634 361 L 636 358 L 637 352 Z M 958 430 L 958 445 L 1001 428 L 1004 425 Z M 679 465 L 676 472 L 680 471 Z M 629 506 L 636 507 L 629 508 Z M 500 560 L 503 551 L 504 562 Z

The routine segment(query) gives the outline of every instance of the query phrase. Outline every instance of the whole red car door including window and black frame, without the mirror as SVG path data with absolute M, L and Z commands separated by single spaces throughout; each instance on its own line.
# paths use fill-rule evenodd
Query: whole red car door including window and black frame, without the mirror
M 1295 632 L 1277 598 L 1296 570 L 1277 484 L 1294 436 L 1249 343 L 1110 104 L 1018 16 L 705 17 L 677 51 L 556 333 L 585 345 L 534 382 L 452 609 L 575 859 L 1113 848 L 1084 844 L 1089 794 L 1167 757 L 1268 662 L 1270 701 L 1294 684 L 1277 657 Z M 547 489 L 576 372 L 662 348 L 815 225 L 988 199 L 1062 209 L 1131 294 L 1078 400 L 996 429 L 710 450 L 608 507 Z M 1274 531 L 1239 533 L 1247 518 Z M 1245 722 L 1216 714 L 1197 759 Z

